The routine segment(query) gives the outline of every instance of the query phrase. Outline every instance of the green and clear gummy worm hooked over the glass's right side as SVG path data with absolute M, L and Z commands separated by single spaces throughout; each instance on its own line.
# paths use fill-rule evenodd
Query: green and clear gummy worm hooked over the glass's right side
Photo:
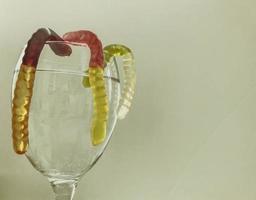
M 123 119 L 131 107 L 136 84 L 136 72 L 134 67 L 134 56 L 128 47 L 119 44 L 111 44 L 104 47 L 105 66 L 111 63 L 114 57 L 118 56 L 122 57 L 124 86 L 117 109 L 117 116 L 119 119 Z

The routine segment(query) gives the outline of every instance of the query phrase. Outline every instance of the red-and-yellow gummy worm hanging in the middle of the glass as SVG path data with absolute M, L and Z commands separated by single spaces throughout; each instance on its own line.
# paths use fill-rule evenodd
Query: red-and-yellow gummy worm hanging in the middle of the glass
M 63 39 L 70 42 L 84 43 L 91 51 L 89 63 L 89 85 L 93 94 L 91 140 L 93 145 L 101 144 L 106 138 L 109 111 L 103 77 L 104 59 L 101 41 L 94 33 L 86 30 L 66 33 Z

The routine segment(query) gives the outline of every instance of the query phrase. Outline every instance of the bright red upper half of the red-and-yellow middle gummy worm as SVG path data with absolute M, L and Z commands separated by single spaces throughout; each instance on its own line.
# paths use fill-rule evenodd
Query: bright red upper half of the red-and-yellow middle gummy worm
M 64 34 L 63 39 L 69 42 L 77 42 L 88 45 L 91 51 L 90 67 L 102 67 L 104 63 L 101 41 L 91 31 L 80 30 Z

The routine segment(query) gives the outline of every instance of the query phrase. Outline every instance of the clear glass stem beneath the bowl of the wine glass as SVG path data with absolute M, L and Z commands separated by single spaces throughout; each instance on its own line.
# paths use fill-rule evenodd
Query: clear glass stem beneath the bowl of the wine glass
M 50 180 L 55 200 L 72 200 L 75 194 L 77 180 Z

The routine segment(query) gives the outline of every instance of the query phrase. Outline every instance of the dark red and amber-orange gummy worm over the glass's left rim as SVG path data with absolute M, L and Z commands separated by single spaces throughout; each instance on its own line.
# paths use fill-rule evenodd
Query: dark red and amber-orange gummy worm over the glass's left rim
M 12 138 L 17 154 L 24 154 L 29 144 L 28 120 L 36 68 L 46 41 L 63 41 L 53 30 L 38 29 L 27 43 L 12 101 Z M 58 56 L 69 56 L 71 48 L 65 44 L 49 44 Z

